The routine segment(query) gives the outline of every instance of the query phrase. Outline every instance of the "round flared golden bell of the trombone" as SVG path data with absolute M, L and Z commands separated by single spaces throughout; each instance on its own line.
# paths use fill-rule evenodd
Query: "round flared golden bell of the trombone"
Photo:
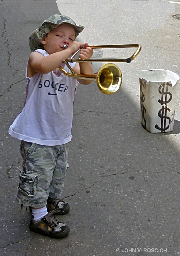
M 96 77 L 98 89 L 104 94 L 117 92 L 122 83 L 122 73 L 113 63 L 104 64 L 98 71 Z

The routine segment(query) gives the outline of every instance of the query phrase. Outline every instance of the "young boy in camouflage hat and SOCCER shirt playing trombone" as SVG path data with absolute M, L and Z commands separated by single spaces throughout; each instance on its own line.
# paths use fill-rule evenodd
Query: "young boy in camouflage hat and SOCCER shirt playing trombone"
M 74 96 L 78 82 L 91 83 L 65 76 L 58 67 L 82 45 L 79 57 L 92 56 L 87 43 L 75 41 L 83 29 L 71 18 L 56 14 L 31 34 L 25 106 L 9 129 L 11 136 L 21 140 L 23 157 L 17 200 L 32 207 L 30 230 L 54 238 L 70 231 L 54 214 L 66 214 L 70 209 L 60 196 L 68 167 Z M 64 45 L 68 46 L 65 50 Z M 93 74 L 90 62 L 70 66 L 75 73 Z M 64 69 L 70 72 L 66 66 Z

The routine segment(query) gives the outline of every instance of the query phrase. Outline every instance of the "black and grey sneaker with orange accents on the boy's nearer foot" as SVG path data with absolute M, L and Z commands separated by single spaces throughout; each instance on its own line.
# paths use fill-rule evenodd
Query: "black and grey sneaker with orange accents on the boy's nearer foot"
M 30 230 L 53 238 L 62 238 L 67 236 L 70 228 L 66 224 L 56 220 L 55 216 L 53 215 L 56 214 L 56 212 L 57 210 L 51 211 L 38 221 L 35 221 L 32 216 L 29 224 Z

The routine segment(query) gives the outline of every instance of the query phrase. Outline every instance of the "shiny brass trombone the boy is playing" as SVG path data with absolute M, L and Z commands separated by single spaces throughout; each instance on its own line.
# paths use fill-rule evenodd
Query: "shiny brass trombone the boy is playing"
M 66 49 L 68 46 L 64 45 L 63 49 Z M 62 66 L 59 66 L 61 72 L 69 77 L 96 81 L 98 89 L 104 94 L 113 94 L 117 92 L 122 84 L 122 73 L 119 67 L 113 63 L 104 64 L 98 71 L 97 74 L 76 74 L 68 62 L 126 62 L 130 63 L 134 58 L 139 54 L 141 50 L 140 44 L 118 44 L 118 45 L 96 45 L 89 46 L 92 49 L 101 49 L 101 48 L 137 48 L 133 55 L 127 59 L 74 59 L 75 55 L 80 52 L 82 48 L 79 48 L 69 59 L 64 60 L 63 62 L 70 69 L 71 73 L 67 72 Z

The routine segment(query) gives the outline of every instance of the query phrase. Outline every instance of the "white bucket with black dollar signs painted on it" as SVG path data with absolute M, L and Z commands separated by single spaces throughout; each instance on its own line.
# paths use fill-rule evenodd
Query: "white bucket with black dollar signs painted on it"
M 141 124 L 147 131 L 173 131 L 178 80 L 169 70 L 140 71 Z

